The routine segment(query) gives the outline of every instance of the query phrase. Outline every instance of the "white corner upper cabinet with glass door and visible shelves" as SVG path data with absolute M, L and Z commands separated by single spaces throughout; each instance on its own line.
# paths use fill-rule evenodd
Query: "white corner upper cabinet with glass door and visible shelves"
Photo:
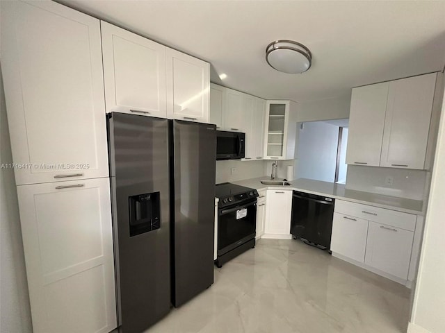
M 293 160 L 297 134 L 297 103 L 293 101 L 267 101 L 264 159 Z

